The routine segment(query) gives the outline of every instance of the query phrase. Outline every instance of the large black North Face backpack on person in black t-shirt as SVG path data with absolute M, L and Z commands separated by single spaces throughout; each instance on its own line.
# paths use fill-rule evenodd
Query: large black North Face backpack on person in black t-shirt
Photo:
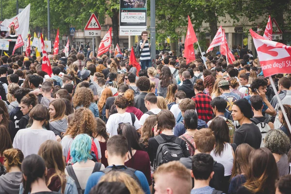
M 161 135 L 155 136 L 155 140 L 159 143 L 156 159 L 154 160 L 154 170 L 163 163 L 178 161 L 184 157 L 181 144 L 184 140 L 176 138 L 173 141 L 164 140 Z

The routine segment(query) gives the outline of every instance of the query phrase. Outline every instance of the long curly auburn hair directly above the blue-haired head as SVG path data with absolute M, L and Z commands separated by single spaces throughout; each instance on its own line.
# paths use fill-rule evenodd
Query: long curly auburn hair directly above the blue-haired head
M 93 132 L 96 130 L 97 122 L 92 111 L 87 108 L 80 108 L 74 113 L 74 118 L 70 122 L 65 135 L 75 138 L 77 135 L 85 133 L 92 137 Z

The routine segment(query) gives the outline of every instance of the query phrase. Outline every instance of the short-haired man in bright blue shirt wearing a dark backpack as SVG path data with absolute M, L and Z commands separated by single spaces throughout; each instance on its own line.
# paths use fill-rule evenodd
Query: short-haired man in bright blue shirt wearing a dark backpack
M 85 194 L 89 194 L 90 190 L 98 184 L 100 178 L 105 175 L 104 172 L 109 172 L 111 169 L 113 171 L 118 171 L 118 169 L 122 169 L 121 171 L 131 171 L 125 166 L 125 160 L 128 160 L 128 141 L 122 135 L 114 135 L 107 141 L 107 150 L 105 150 L 105 157 L 107 158 L 109 166 L 105 168 L 105 170 L 93 173 L 86 185 Z M 131 171 L 133 172 L 133 171 Z M 128 173 L 129 174 L 129 173 Z M 138 179 L 140 182 L 140 186 L 144 190 L 146 194 L 150 194 L 150 189 L 148 186 L 148 182 L 146 176 L 141 171 L 135 170 L 134 175 L 129 175 Z M 134 177 L 133 177 L 134 176 Z

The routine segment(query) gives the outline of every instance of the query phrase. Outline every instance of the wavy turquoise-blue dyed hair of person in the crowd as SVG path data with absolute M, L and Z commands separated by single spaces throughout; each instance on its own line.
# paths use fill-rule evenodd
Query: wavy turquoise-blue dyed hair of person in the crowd
M 71 145 L 70 155 L 72 157 L 72 162 L 86 162 L 88 159 L 92 159 L 91 156 L 91 145 L 92 139 L 87 134 L 77 135 Z

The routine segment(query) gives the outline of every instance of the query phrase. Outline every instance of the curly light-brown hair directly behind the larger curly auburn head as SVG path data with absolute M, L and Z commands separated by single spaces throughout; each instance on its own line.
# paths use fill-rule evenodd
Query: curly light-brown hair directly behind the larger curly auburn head
M 81 105 L 88 108 L 91 102 L 94 102 L 94 96 L 90 88 L 81 87 L 76 90 L 73 98 L 73 105 L 75 108 Z

